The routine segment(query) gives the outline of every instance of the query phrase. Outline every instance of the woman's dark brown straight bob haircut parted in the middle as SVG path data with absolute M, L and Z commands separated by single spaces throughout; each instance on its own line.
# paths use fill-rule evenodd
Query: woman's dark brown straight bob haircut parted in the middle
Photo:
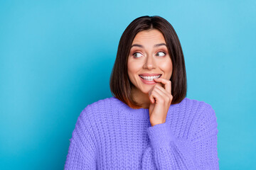
M 171 75 L 171 95 L 173 100 L 171 104 L 180 103 L 186 97 L 186 68 L 181 48 L 181 42 L 178 40 L 174 28 L 166 19 L 160 16 L 141 16 L 134 19 L 127 26 L 120 38 L 117 58 L 110 76 L 110 91 L 115 98 L 126 103 L 130 108 L 142 108 L 132 98 L 132 82 L 128 76 L 127 61 L 135 35 L 142 30 L 159 30 L 166 41 L 166 46 L 173 64 Z

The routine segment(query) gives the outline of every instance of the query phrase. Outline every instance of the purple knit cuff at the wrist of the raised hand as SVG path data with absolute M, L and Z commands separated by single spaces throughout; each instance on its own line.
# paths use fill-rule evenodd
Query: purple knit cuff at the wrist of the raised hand
M 147 129 L 147 133 L 153 149 L 167 147 L 172 141 L 176 140 L 176 137 L 171 132 L 171 127 L 167 123 L 151 126 Z

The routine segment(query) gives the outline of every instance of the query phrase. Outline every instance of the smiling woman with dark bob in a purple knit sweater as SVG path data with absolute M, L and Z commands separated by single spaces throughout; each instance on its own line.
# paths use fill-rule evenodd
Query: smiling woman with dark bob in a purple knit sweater
M 186 98 L 181 44 L 164 18 L 124 30 L 110 89 L 80 114 L 65 169 L 219 169 L 215 111 Z

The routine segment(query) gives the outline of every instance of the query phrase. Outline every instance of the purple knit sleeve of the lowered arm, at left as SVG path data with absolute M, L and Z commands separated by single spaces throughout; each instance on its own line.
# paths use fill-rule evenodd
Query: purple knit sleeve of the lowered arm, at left
M 89 107 L 87 106 L 75 124 L 68 148 L 65 170 L 96 169 L 96 147 L 88 113 Z

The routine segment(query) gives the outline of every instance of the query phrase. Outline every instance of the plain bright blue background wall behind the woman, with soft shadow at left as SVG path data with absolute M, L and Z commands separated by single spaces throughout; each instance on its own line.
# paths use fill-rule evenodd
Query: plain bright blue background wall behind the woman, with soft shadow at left
M 168 20 L 187 97 L 218 121 L 220 169 L 256 169 L 255 1 L 0 1 L 0 169 L 63 169 L 88 104 L 111 97 L 124 29 Z

